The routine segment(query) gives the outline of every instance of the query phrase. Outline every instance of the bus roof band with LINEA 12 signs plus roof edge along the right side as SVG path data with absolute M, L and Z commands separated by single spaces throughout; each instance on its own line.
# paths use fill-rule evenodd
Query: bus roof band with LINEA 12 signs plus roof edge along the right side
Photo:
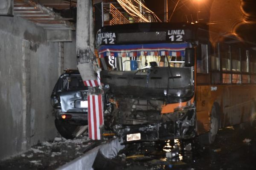
M 182 39 L 179 39 L 179 34 L 182 35 Z M 104 26 L 97 32 L 96 46 L 170 42 L 180 43 L 193 42 L 200 39 L 209 41 L 210 34 L 213 36 L 218 35 L 218 42 L 244 44 L 247 47 L 256 47 L 255 43 L 241 40 L 239 37 L 225 35 L 225 33 L 214 33 L 209 30 L 208 25 L 203 23 L 130 23 Z

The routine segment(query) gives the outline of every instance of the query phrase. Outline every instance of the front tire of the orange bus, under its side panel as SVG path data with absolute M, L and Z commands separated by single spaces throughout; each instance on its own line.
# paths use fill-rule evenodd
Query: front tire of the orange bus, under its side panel
M 199 142 L 201 144 L 209 145 L 215 141 L 215 137 L 218 133 L 219 119 L 217 116 L 216 106 L 212 106 L 211 116 L 210 116 L 210 130 L 198 136 Z

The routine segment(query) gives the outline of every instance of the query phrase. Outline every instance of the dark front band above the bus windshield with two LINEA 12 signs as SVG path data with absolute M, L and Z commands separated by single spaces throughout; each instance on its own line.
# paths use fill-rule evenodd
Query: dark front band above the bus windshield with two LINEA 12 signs
M 96 46 L 193 42 L 201 24 L 133 23 L 102 27 Z

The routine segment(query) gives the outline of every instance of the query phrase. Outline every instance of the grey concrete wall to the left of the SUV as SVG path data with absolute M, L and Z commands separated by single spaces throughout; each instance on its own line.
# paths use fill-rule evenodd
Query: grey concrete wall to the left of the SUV
M 50 95 L 61 69 L 76 68 L 76 43 L 46 38 L 27 20 L 0 17 L 0 160 L 57 135 Z

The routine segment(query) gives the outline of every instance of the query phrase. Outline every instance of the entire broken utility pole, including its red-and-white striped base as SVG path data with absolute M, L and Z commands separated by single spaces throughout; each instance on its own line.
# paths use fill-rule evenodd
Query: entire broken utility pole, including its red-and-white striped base
M 104 121 L 100 70 L 94 55 L 93 0 L 77 0 L 76 55 L 79 73 L 88 87 L 87 99 L 84 100 L 88 102 L 89 138 L 99 140 Z

